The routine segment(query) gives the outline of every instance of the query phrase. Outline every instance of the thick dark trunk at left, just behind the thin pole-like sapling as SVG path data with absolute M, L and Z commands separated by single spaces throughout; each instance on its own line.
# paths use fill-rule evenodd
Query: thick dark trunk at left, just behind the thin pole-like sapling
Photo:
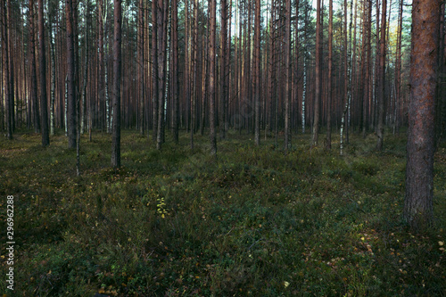
M 76 147 L 76 85 L 75 85 L 75 65 L 74 65 L 74 37 L 73 37 L 73 0 L 67 0 L 66 5 L 67 18 L 67 129 L 68 129 L 68 147 Z

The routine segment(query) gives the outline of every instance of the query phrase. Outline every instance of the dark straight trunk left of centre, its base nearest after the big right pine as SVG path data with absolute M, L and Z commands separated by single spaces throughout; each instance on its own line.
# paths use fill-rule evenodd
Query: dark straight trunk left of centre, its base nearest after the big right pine
M 120 71 L 121 71 L 121 0 L 114 0 L 113 41 L 113 122 L 111 129 L 111 166 L 120 167 Z

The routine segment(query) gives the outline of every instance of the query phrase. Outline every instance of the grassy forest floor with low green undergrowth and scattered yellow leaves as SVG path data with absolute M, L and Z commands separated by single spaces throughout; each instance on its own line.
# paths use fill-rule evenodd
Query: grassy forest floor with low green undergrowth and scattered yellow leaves
M 401 219 L 406 137 L 351 136 L 345 155 L 310 151 L 293 136 L 286 156 L 269 138 L 183 132 L 162 151 L 123 131 L 82 136 L 81 177 L 67 140 L 18 132 L 0 141 L 1 254 L 6 196 L 14 195 L 14 296 L 446 295 L 446 143 L 435 153 L 434 227 Z M 169 133 L 168 133 L 169 134 Z M 322 136 L 321 136 L 322 137 Z M 336 137 L 337 140 L 338 137 Z M 280 144 L 282 145 L 282 144 Z M 282 147 L 282 146 L 280 146 Z M 5 277 L 6 259 L 1 259 Z M 12 293 L 12 294 L 11 294 Z

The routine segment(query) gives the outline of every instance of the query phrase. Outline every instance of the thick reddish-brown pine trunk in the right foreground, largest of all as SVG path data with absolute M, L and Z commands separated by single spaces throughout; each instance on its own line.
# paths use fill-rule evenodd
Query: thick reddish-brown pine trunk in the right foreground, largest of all
M 434 102 L 440 4 L 435 0 L 415 0 L 412 7 L 408 154 L 403 217 L 413 227 L 421 228 L 430 225 L 434 217 Z

